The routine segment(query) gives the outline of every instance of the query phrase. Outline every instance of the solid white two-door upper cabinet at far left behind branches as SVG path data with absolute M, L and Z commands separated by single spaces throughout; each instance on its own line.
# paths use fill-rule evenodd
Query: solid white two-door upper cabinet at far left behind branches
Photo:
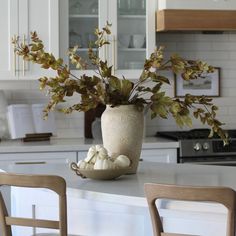
M 59 3 L 58 0 L 7 0 L 1 1 L 0 24 L 0 79 L 38 79 L 43 74 L 39 65 L 33 65 L 14 54 L 11 40 L 19 37 L 20 43 L 30 42 L 30 32 L 36 31 L 46 50 L 59 56 Z

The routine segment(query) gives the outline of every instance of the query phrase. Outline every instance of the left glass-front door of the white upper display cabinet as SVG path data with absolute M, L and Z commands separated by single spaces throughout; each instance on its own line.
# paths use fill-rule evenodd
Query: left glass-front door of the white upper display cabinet
M 63 59 L 69 63 L 68 49 L 78 45 L 77 54 L 87 63 L 86 73 L 92 74 L 94 67 L 88 60 L 88 47 L 93 47 L 96 37 L 95 28 L 105 25 L 107 20 L 107 0 L 61 0 L 60 1 L 60 45 L 62 46 L 60 54 Z M 63 12 L 65 11 L 65 12 Z M 65 26 L 65 28 L 63 28 Z M 95 49 L 94 49 L 95 50 Z M 99 52 L 102 57 L 102 53 Z M 74 74 L 85 73 L 69 64 Z

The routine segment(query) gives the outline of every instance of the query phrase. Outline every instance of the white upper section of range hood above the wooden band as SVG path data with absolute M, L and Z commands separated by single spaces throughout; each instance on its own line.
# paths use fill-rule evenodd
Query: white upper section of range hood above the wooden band
M 158 10 L 162 9 L 202 9 L 235 10 L 235 0 L 158 0 Z

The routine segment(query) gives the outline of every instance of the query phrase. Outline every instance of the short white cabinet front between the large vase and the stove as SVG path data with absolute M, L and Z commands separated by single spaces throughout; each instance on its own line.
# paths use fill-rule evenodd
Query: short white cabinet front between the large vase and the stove
M 142 149 L 141 160 L 161 163 L 177 163 L 177 148 Z

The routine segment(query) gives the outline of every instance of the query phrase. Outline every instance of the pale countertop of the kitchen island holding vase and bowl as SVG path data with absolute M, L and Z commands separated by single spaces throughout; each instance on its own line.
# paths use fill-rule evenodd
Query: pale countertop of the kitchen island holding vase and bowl
M 69 197 L 113 203 L 146 206 L 144 183 L 165 183 L 199 186 L 228 186 L 236 190 L 236 168 L 189 164 L 141 162 L 137 174 L 123 175 L 116 180 L 81 179 L 68 165 L 7 165 L 9 172 L 53 174 L 66 179 Z

